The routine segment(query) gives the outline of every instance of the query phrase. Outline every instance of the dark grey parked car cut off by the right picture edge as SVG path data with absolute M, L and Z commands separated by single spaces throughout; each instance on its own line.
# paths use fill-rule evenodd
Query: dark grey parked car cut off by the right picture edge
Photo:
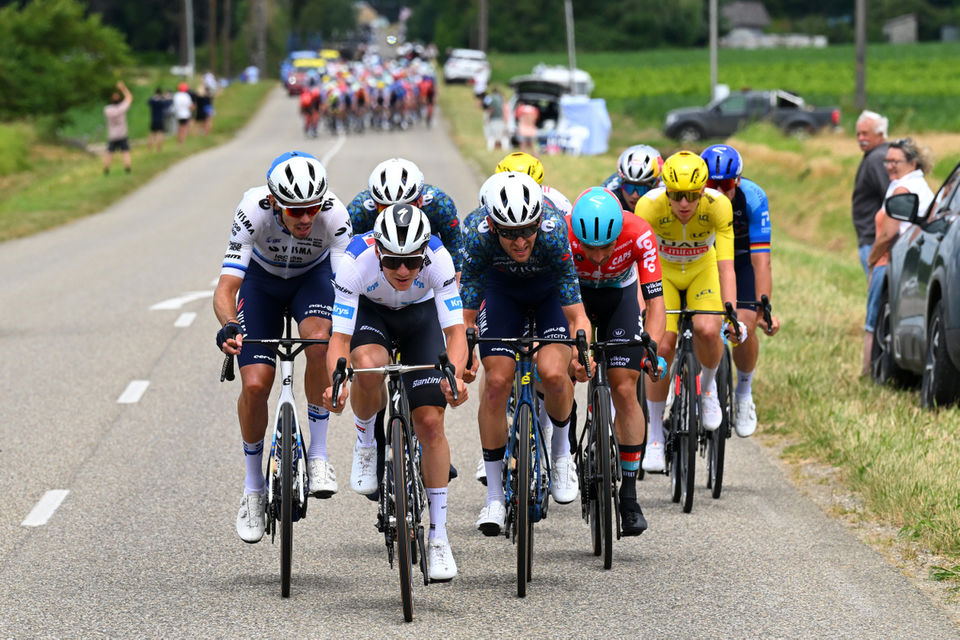
M 912 193 L 887 199 L 887 214 L 913 226 L 890 250 L 871 358 L 874 380 L 921 378 L 924 407 L 960 398 L 960 164 L 927 211 Z

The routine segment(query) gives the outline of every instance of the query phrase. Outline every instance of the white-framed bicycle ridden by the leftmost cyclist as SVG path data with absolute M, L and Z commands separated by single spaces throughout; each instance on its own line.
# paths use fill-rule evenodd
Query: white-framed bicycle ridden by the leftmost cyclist
M 280 595 L 290 597 L 290 576 L 293 564 L 293 523 L 307 515 L 310 493 L 307 456 L 303 446 L 300 421 L 293 397 L 293 360 L 311 345 L 327 344 L 328 340 L 294 338 L 289 311 L 284 311 L 285 329 L 282 338 L 244 338 L 244 344 L 262 344 L 273 350 L 280 361 L 280 399 L 277 402 L 270 455 L 267 458 L 267 495 L 265 532 L 270 541 L 280 532 Z M 233 356 L 224 358 L 220 381 L 233 380 Z

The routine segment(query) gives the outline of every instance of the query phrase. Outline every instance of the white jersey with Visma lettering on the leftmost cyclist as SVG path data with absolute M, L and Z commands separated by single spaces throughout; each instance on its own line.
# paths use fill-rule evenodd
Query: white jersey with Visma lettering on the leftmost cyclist
M 353 235 L 350 216 L 340 199 L 327 191 L 310 235 L 301 240 L 280 224 L 282 214 L 273 210 L 268 195 L 270 190 L 266 186 L 254 187 L 243 194 L 233 217 L 233 231 L 220 275 L 242 278 L 253 259 L 268 273 L 293 278 L 320 264 L 327 256 L 336 273 Z

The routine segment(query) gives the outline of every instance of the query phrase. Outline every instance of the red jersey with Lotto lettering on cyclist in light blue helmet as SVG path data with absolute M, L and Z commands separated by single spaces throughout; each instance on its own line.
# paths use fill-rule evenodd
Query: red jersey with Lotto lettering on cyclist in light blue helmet
M 633 284 L 639 277 L 644 298 L 661 294 L 657 236 L 643 218 L 623 212 L 623 229 L 617 236 L 613 254 L 600 266 L 584 255 L 583 243 L 573 233 L 569 215 L 567 231 L 581 287 L 623 288 Z

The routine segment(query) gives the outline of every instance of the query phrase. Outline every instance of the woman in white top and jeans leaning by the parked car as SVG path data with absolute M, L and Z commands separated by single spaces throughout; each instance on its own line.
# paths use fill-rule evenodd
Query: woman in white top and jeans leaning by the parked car
M 925 149 L 921 150 L 911 138 L 901 138 L 888 145 L 884 165 L 890 178 L 890 185 L 881 202 L 898 193 L 915 193 L 920 199 L 917 210 L 926 211 L 933 200 L 933 191 L 924 177 L 924 173 L 930 171 L 933 166 L 929 153 Z M 887 215 L 881 204 L 874 216 L 874 226 L 876 237 L 873 249 L 867 257 L 870 286 L 867 292 L 867 321 L 863 326 L 862 375 L 870 373 L 870 352 L 873 348 L 873 334 L 880 317 L 880 293 L 883 290 L 883 276 L 890 259 L 890 247 L 893 246 L 897 236 L 909 228 L 910 223 L 894 220 Z

